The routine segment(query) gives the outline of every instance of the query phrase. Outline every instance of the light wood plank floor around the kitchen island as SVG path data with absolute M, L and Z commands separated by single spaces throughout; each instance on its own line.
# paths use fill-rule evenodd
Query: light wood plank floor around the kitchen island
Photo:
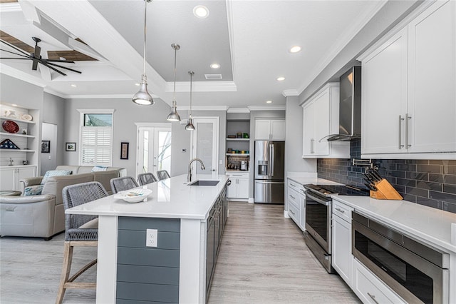
M 63 239 L 0 238 L 0 303 L 55 302 Z M 74 267 L 95 255 L 95 248 L 76 248 Z M 81 278 L 95 280 L 95 273 Z M 67 290 L 63 303 L 95 303 L 95 290 Z M 326 273 L 283 206 L 230 202 L 209 303 L 361 302 Z

